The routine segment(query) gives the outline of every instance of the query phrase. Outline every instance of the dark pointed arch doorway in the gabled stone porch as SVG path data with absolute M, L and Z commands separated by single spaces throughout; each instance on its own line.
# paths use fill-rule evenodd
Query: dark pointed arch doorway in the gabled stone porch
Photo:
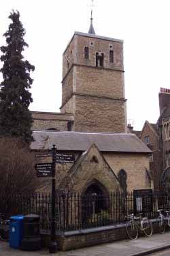
M 82 225 L 98 222 L 98 215 L 109 208 L 109 193 L 103 184 L 93 180 L 82 193 Z

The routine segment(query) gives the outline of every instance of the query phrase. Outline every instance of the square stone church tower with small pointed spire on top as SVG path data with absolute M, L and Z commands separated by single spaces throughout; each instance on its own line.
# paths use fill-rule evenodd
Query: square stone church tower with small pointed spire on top
M 63 53 L 61 113 L 72 113 L 71 130 L 126 132 L 123 42 L 75 32 Z

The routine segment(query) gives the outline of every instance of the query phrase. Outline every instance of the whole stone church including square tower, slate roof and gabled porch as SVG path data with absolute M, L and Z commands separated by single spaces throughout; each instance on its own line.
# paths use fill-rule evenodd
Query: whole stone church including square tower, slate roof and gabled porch
M 32 114 L 32 150 L 56 143 L 58 152 L 75 156 L 56 165 L 58 190 L 105 195 L 152 188 L 151 151 L 126 133 L 122 40 L 95 35 L 92 23 L 88 33 L 75 32 L 63 54 L 61 113 Z

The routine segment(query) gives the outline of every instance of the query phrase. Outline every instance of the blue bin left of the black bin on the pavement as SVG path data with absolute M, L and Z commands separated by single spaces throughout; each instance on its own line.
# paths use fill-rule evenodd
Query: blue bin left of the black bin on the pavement
M 23 236 L 23 218 L 22 215 L 11 216 L 10 218 L 10 246 L 20 248 Z

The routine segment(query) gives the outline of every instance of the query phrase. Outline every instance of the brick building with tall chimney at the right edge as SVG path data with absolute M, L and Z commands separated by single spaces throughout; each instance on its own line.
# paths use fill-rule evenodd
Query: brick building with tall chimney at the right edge
M 141 130 L 140 139 L 153 154 L 150 158 L 150 170 L 154 179 L 154 188 L 170 191 L 170 89 L 160 88 L 160 115 L 156 124 L 146 121 Z

